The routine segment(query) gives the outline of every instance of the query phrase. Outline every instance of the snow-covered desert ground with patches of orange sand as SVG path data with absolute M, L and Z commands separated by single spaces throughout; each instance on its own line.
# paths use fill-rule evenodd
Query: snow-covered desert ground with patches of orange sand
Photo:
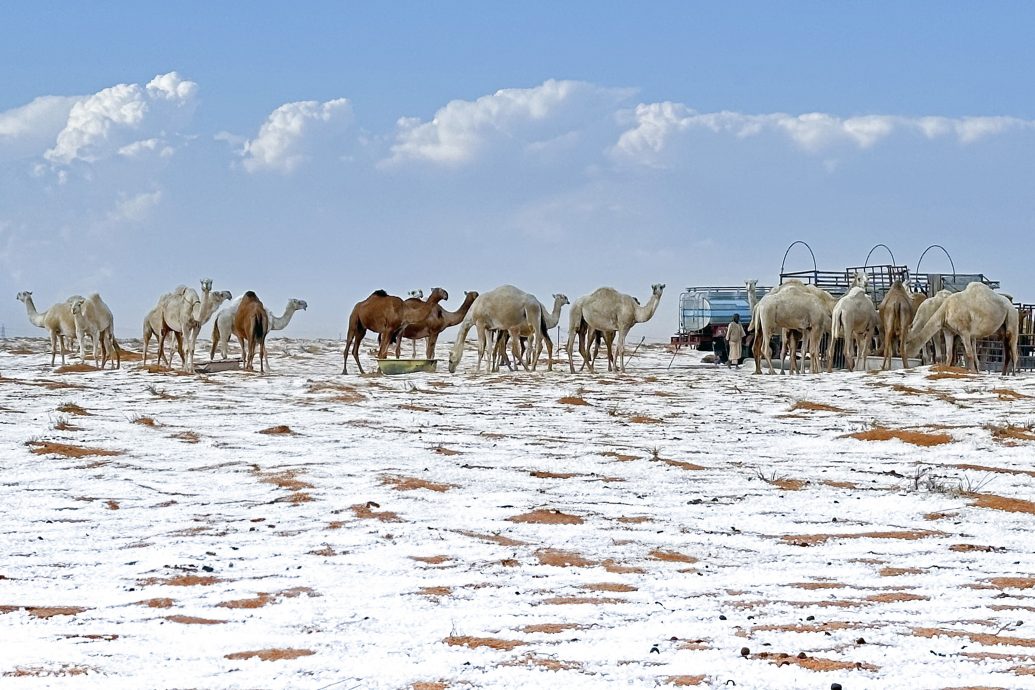
M 1030 374 L 46 349 L 0 351 L 5 689 L 1035 688 Z

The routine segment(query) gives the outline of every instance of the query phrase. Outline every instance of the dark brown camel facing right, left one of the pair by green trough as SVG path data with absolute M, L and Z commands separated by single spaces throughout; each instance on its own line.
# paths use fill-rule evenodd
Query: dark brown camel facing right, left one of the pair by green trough
M 359 343 L 367 331 L 379 335 L 378 359 L 385 359 L 388 357 L 388 346 L 398 338 L 407 326 L 427 319 L 438 303 L 446 299 L 449 299 L 449 294 L 436 288 L 426 302 L 407 306 L 401 298 L 383 290 L 376 290 L 369 297 L 357 302 L 349 314 L 349 334 L 342 354 L 342 373 L 348 373 L 350 350 L 359 372 L 363 373 L 363 365 L 359 362 Z M 395 356 L 398 357 L 397 348 Z

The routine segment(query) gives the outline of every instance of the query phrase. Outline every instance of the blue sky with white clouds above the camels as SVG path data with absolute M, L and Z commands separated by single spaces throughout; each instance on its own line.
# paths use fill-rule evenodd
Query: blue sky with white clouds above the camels
M 336 336 L 384 288 L 772 282 L 944 244 L 1035 300 L 1030 3 L 22 3 L 0 322 L 212 277 Z M 883 259 L 882 259 L 883 261 Z M 929 263 L 928 263 L 929 262 Z M 792 253 L 790 267 L 807 257 Z M 947 270 L 928 254 L 924 268 Z

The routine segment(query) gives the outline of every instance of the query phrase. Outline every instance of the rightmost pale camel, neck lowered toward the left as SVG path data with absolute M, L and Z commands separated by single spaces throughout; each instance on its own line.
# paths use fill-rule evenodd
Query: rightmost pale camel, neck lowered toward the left
M 1013 303 L 983 282 L 971 282 L 962 292 L 945 297 L 925 324 L 917 322 L 904 340 L 904 353 L 916 355 L 941 329 L 948 329 L 964 341 L 967 367 L 978 370 L 977 339 L 992 335 L 1003 338 L 1003 376 L 1017 368 L 1019 316 Z M 905 356 L 905 355 L 904 355 Z

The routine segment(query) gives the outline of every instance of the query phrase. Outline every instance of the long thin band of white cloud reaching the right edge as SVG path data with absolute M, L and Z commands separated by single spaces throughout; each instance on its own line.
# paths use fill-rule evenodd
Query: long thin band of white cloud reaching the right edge
M 864 115 L 841 118 L 827 113 L 744 115 L 735 112 L 699 113 L 682 103 L 641 103 L 621 115 L 628 128 L 612 148 L 613 155 L 644 164 L 656 164 L 666 147 L 681 133 L 708 130 L 737 138 L 776 132 L 809 153 L 836 146 L 867 149 L 895 132 L 927 139 L 955 138 L 971 144 L 1014 129 L 1035 128 L 1035 121 L 1010 117 L 904 117 Z

